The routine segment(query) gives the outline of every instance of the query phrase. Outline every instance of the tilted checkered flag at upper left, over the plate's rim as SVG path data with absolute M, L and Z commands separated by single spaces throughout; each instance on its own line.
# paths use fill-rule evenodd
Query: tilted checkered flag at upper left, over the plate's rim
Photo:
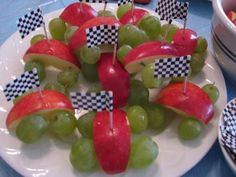
M 40 8 L 29 12 L 17 21 L 17 27 L 23 39 L 25 36 L 30 34 L 36 28 L 43 24 L 42 10 Z

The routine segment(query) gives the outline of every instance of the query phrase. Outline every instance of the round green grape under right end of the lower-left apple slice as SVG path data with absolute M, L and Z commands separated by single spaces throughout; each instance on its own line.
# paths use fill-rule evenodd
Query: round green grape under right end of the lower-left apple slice
M 68 136 L 76 128 L 76 118 L 68 111 L 57 111 L 50 120 L 49 128 L 57 136 Z

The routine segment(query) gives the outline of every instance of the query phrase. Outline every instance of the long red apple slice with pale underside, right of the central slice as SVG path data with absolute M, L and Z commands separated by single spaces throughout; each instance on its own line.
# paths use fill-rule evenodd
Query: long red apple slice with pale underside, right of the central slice
M 133 48 L 124 58 L 125 69 L 129 73 L 142 70 L 144 64 L 152 63 L 155 59 L 178 56 L 179 52 L 171 44 L 160 41 L 145 42 Z

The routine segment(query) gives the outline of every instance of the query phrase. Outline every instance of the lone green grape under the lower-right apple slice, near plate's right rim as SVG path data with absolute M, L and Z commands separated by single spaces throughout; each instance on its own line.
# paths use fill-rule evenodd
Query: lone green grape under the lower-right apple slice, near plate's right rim
M 184 140 L 197 138 L 202 131 L 202 123 L 195 118 L 186 117 L 178 126 L 179 136 Z

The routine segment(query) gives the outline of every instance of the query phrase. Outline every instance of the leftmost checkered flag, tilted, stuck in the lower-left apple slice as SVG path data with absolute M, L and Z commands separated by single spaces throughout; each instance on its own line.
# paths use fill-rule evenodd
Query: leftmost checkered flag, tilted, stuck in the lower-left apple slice
M 8 83 L 3 92 L 7 98 L 7 101 L 10 101 L 22 95 L 29 89 L 39 87 L 39 85 L 38 72 L 37 69 L 34 68 L 31 71 L 24 72 L 12 82 Z

